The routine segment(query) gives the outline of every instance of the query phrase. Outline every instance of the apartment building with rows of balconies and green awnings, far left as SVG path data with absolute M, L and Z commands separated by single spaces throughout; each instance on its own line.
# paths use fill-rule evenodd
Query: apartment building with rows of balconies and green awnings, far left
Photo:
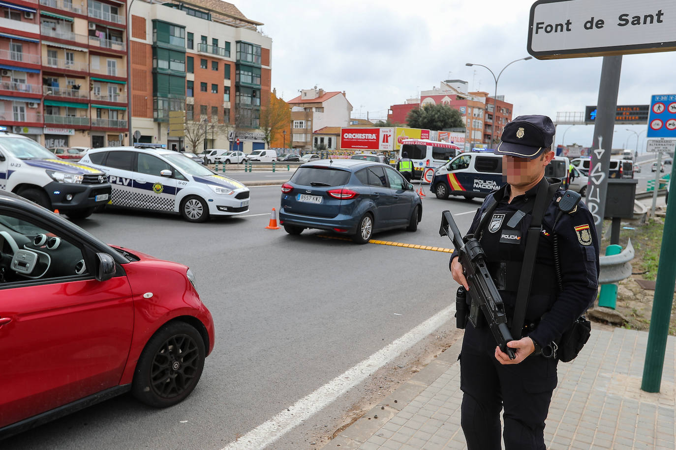
M 14 0 L 1 9 L 0 125 L 50 148 L 128 139 L 126 3 Z

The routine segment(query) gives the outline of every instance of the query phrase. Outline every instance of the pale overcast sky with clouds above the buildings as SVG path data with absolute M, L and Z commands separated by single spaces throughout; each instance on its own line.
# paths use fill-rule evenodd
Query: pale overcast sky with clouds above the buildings
M 272 38 L 272 87 L 286 101 L 314 86 L 345 90 L 353 117 L 385 118 L 390 105 L 441 80 L 466 80 L 491 95 L 502 68 L 527 57 L 529 0 L 233 0 Z M 518 61 L 498 82 L 513 117 L 583 112 L 596 105 L 601 57 Z M 625 55 L 618 105 L 675 94 L 676 53 Z M 594 125 L 560 125 L 556 144 L 590 146 Z M 645 148 L 647 125 L 615 125 L 613 148 Z

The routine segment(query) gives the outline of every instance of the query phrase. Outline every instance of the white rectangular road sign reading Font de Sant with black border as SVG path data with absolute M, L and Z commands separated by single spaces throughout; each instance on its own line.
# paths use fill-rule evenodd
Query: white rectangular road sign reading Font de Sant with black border
M 538 0 L 528 53 L 537 59 L 676 50 L 674 0 Z

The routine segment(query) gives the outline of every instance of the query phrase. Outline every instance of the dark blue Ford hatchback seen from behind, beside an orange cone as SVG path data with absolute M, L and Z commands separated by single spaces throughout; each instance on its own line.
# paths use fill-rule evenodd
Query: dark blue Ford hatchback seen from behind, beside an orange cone
M 413 185 L 381 163 L 312 161 L 282 185 L 279 221 L 289 234 L 327 229 L 366 244 L 376 231 L 416 231 L 422 217 L 423 204 Z

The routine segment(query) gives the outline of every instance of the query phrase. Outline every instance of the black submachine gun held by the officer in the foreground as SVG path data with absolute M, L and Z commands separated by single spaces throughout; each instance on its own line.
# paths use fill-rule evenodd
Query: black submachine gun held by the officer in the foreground
M 500 293 L 498 293 L 496 283 L 493 282 L 493 278 L 488 271 L 486 256 L 483 248 L 481 248 L 481 244 L 479 244 L 474 235 L 468 234 L 462 237 L 456 221 L 454 221 L 453 216 L 448 210 L 441 213 L 439 235 L 448 236 L 456 250 L 458 250 L 458 259 L 460 264 L 462 264 L 462 273 L 464 273 L 470 287 L 469 295 L 472 300 L 469 310 L 470 322 L 472 322 L 475 328 L 479 328 L 483 326 L 483 318 L 485 318 L 500 349 L 513 360 L 516 358 L 516 354 L 514 353 L 514 349 L 507 347 L 507 343 L 514 339 L 512 339 L 512 333 L 510 333 L 507 327 L 504 303 L 502 302 Z M 461 329 L 464 328 L 467 315 L 466 295 L 464 287 L 458 287 L 456 295 L 456 324 Z M 480 314 L 481 311 L 483 311 L 483 318 Z

